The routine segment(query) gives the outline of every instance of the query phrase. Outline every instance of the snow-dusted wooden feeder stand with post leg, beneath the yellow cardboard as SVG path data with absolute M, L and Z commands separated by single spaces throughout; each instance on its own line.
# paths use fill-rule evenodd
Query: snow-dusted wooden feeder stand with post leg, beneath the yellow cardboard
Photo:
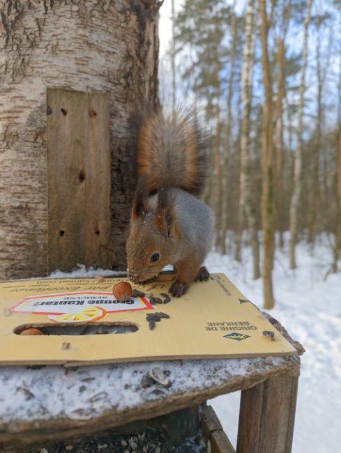
M 292 340 L 275 319 L 267 317 L 295 346 L 298 354 L 303 353 L 303 347 Z M 154 391 L 153 387 L 146 389 L 141 384 L 133 387 L 128 384 L 128 376 L 140 376 L 141 382 L 156 365 L 167 369 L 174 384 L 178 385 Z M 195 420 L 200 420 L 212 453 L 289 453 L 299 371 L 297 355 L 123 363 L 66 370 L 63 367 L 4 367 L 0 385 L 6 384 L 13 407 L 2 408 L 0 413 L 0 451 L 25 451 L 29 445 L 47 445 L 47 442 L 79 436 L 84 438 L 107 429 L 114 433 L 132 433 L 139 429 L 143 431 L 146 426 L 174 427 L 174 420 L 182 420 L 181 424 L 175 425 L 180 438 L 181 430 L 187 436 L 188 427 L 196 429 Z M 98 379 L 107 380 L 107 392 L 98 392 L 95 385 Z M 42 394 L 53 394 L 56 401 L 63 401 L 58 415 L 48 411 L 42 413 L 41 401 L 35 399 L 34 390 L 27 387 L 33 381 L 40 383 Z M 71 401 L 81 387 L 86 399 L 82 399 L 82 404 L 79 403 L 79 408 L 74 410 Z M 16 405 L 15 401 L 22 399 L 25 389 L 27 394 L 33 394 L 29 406 Z M 238 443 L 234 450 L 206 401 L 238 390 L 241 391 L 241 406 Z M 130 401 L 127 406 L 125 401 L 131 398 L 132 392 L 136 401 Z M 119 395 L 121 404 L 117 404 L 115 398 L 112 400 L 115 395 Z M 17 414 L 20 414 L 20 419 Z M 13 448 L 15 450 L 11 450 Z

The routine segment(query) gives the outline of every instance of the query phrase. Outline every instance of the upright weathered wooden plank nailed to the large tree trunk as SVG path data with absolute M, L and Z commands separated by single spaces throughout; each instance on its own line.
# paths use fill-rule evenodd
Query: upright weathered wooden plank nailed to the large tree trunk
M 48 271 L 110 262 L 109 97 L 47 89 Z

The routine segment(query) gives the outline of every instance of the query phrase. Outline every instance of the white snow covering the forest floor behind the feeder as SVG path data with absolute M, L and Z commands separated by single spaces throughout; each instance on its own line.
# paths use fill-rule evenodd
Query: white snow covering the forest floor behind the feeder
M 306 350 L 301 357 L 292 453 L 336 452 L 341 439 L 341 272 L 326 277 L 331 266 L 326 240 L 312 252 L 306 243 L 299 244 L 297 264 L 296 270 L 289 270 L 286 247 L 276 252 L 275 308 L 268 311 Z M 211 272 L 224 272 L 246 298 L 263 307 L 262 281 L 252 280 L 248 247 L 242 263 L 212 252 L 206 266 Z M 240 392 L 211 400 L 234 445 L 239 399 Z

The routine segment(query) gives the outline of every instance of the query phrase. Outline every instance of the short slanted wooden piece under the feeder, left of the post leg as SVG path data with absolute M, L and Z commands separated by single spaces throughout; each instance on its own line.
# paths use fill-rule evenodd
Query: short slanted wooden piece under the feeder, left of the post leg
M 236 452 L 211 406 L 202 408 L 202 429 L 206 439 L 211 443 L 212 453 Z

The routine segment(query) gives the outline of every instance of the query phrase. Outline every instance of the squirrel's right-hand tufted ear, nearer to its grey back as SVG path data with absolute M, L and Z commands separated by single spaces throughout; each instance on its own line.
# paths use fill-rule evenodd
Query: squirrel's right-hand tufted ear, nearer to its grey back
M 162 187 L 158 191 L 158 207 L 154 217 L 156 229 L 165 236 L 174 237 L 177 234 L 177 220 L 174 210 L 174 200 L 169 191 Z

